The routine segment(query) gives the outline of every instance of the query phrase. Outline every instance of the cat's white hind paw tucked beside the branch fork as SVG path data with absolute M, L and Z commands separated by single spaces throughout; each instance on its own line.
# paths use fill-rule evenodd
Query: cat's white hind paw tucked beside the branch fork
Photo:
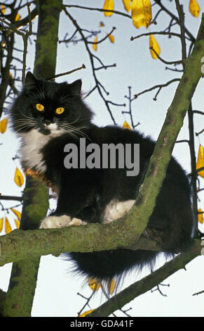
M 105 208 L 103 223 L 110 223 L 113 220 L 121 218 L 125 213 L 130 211 L 133 204 L 135 204 L 135 200 L 120 202 L 112 200 Z

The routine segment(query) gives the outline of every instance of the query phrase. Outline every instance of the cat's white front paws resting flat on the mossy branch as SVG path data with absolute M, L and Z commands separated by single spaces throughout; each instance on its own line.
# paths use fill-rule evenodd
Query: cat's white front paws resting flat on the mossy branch
M 44 218 L 41 222 L 40 229 L 53 229 L 60 227 L 67 227 L 70 225 L 86 225 L 86 222 L 80 220 L 79 218 L 70 218 L 67 215 L 63 216 L 48 216 Z

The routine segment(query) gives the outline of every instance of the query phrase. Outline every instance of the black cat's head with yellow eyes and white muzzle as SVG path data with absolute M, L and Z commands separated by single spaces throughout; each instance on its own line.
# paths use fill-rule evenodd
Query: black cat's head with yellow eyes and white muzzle
M 90 125 L 92 115 L 81 99 L 81 80 L 48 82 L 30 72 L 11 108 L 13 129 L 20 134 L 37 130 L 43 135 L 70 132 L 77 136 Z

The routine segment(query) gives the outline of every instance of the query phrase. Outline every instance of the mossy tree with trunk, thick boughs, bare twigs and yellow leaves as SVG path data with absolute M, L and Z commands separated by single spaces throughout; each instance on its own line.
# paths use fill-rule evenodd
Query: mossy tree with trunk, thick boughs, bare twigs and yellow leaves
M 104 105 L 110 115 L 110 118 L 114 124 L 116 124 L 116 119 L 112 111 L 113 106 L 122 107 L 123 104 L 118 104 L 117 102 L 110 101 L 107 99 L 107 88 L 104 87 L 102 81 L 97 74 L 98 70 L 109 69 L 114 67 L 113 65 L 104 65 L 104 62 L 95 53 L 96 46 L 100 47 L 102 42 L 106 39 L 110 39 L 114 42 L 114 30 L 113 28 L 105 37 L 102 37 L 97 41 L 97 37 L 100 35 L 99 31 L 87 31 L 85 28 L 81 27 L 78 20 L 72 15 L 70 8 L 78 8 L 79 11 L 100 11 L 110 15 L 114 12 L 114 15 L 121 15 L 125 18 L 132 20 L 135 25 L 140 26 L 140 21 L 138 23 L 138 13 L 137 8 L 135 11 L 132 10 L 132 17 L 130 14 L 125 13 L 125 11 L 114 11 L 113 8 L 85 8 L 79 5 L 62 4 L 61 0 L 52 1 L 34 1 L 32 4 L 33 8 L 30 10 L 29 4 L 22 3 L 23 1 L 13 1 L 11 4 L 1 4 L 1 111 L 4 110 L 3 105 L 5 102 L 10 102 L 10 98 L 13 94 L 18 94 L 18 89 L 16 84 L 18 82 L 18 70 L 22 72 L 22 82 L 25 79 L 26 72 L 26 56 L 27 56 L 27 42 L 29 38 L 32 37 L 32 19 L 36 17 L 39 13 L 39 23 L 38 32 L 36 36 L 36 56 L 34 63 L 34 73 L 46 79 L 55 78 L 55 65 L 56 65 L 56 51 L 57 51 L 57 30 L 59 25 L 59 15 L 63 11 L 67 16 L 67 19 L 72 23 L 74 27 L 74 32 L 69 32 L 71 37 L 65 35 L 64 39 L 60 40 L 59 43 L 66 44 L 69 46 L 71 43 L 82 42 L 86 48 L 90 65 L 92 69 L 94 87 L 90 89 L 88 96 L 95 92 L 99 93 L 100 97 L 104 101 Z M 113 4 L 114 1 L 105 1 L 106 3 Z M 130 6 L 130 1 L 123 1 L 126 6 Z M 148 1 L 147 1 L 148 2 Z M 196 6 L 196 1 L 194 6 Z M 150 3 L 149 3 L 150 4 Z M 132 207 L 128 215 L 122 220 L 117 220 L 113 224 L 107 225 L 87 225 L 86 228 L 81 229 L 81 227 L 70 227 L 63 230 L 56 230 L 52 232 L 50 230 L 36 230 L 39 227 L 40 220 L 46 216 L 46 211 L 48 209 L 48 189 L 41 182 L 40 179 L 36 179 L 27 175 L 25 190 L 23 198 L 18 197 L 20 201 L 23 201 L 22 206 L 22 217 L 20 222 L 20 230 L 11 232 L 9 235 L 1 237 L 1 265 L 8 262 L 13 263 L 13 271 L 11 274 L 10 286 L 6 295 L 2 293 L 2 305 L 4 305 L 3 316 L 30 316 L 32 309 L 32 299 L 34 296 L 34 289 L 36 287 L 36 273 L 39 266 L 39 256 L 46 254 L 58 255 L 63 251 L 92 251 L 92 249 L 100 251 L 104 249 L 116 249 L 118 246 L 124 246 L 126 248 L 132 249 L 153 249 L 160 250 L 159 244 L 147 239 L 140 239 L 140 235 L 147 226 L 147 222 L 151 212 L 154 208 L 156 196 L 161 187 L 163 178 L 165 177 L 165 168 L 170 160 L 170 155 L 172 153 L 172 148 L 175 144 L 175 139 L 179 130 L 182 127 L 186 111 L 188 111 L 189 117 L 189 146 L 191 151 L 191 182 L 193 188 L 193 213 L 194 217 L 198 218 L 198 206 L 197 206 L 197 175 L 202 171 L 203 165 L 197 167 L 196 170 L 196 157 L 194 151 L 193 142 L 193 108 L 191 106 L 191 99 L 193 92 L 196 89 L 196 85 L 202 77 L 203 73 L 200 70 L 200 61 L 202 58 L 202 53 L 204 49 L 204 37 L 203 37 L 203 25 L 204 18 L 200 23 L 200 30 L 198 32 L 198 37 L 195 39 L 191 32 L 186 28 L 184 24 L 184 12 L 179 1 L 175 1 L 177 8 L 177 16 L 168 10 L 168 6 L 163 6 L 161 1 L 155 1 L 157 6 L 157 11 L 155 17 L 151 20 L 149 18 L 149 9 L 144 12 L 143 25 L 149 25 L 156 23 L 158 20 L 158 15 L 160 13 L 167 13 L 170 18 L 170 24 L 168 28 L 164 31 L 148 32 L 150 35 L 150 46 L 151 55 L 158 60 L 163 61 L 168 65 L 182 65 L 182 68 L 177 69 L 171 68 L 170 70 L 184 71 L 181 78 L 175 78 L 169 82 L 156 85 L 150 89 L 145 89 L 145 91 L 135 94 L 132 97 L 132 90 L 129 87 L 129 96 L 126 99 L 129 101 L 128 111 L 122 111 L 123 114 L 128 114 L 131 128 L 134 130 L 137 127 L 135 124 L 135 118 L 132 113 L 132 104 L 135 99 L 141 94 L 147 93 L 150 90 L 157 89 L 156 96 L 161 92 L 163 87 L 172 84 L 173 82 L 179 81 L 179 85 L 175 92 L 175 97 L 172 101 L 170 108 L 168 109 L 168 114 L 161 130 L 161 134 L 158 137 L 156 144 L 156 149 L 154 151 L 154 156 L 151 158 L 151 163 L 149 165 L 149 170 L 147 171 L 147 176 L 144 180 L 144 185 L 140 189 L 140 194 L 137 196 L 135 206 Z M 132 2 L 134 6 L 134 1 Z M 11 9 L 10 14 L 6 14 L 4 10 Z M 20 13 L 22 10 L 27 8 L 27 15 L 25 18 L 20 18 Z M 149 7 L 150 8 L 150 7 Z M 193 7 L 198 14 L 198 7 Z M 191 8 L 191 12 L 193 9 Z M 136 23 L 135 23 L 136 22 Z M 102 23 L 101 23 L 102 25 Z M 177 25 L 179 27 L 179 32 L 172 32 L 173 27 Z M 160 56 L 160 48 L 154 39 L 154 35 L 168 35 L 171 37 L 177 37 L 182 42 L 182 60 L 180 61 L 165 61 Z M 23 49 L 22 49 L 22 62 L 21 67 L 13 67 L 13 61 L 16 60 L 13 55 L 15 51 L 15 37 L 19 35 L 22 37 Z M 132 37 L 131 40 L 134 42 L 138 37 L 142 35 L 137 35 Z M 93 42 L 90 42 L 90 38 L 94 37 Z M 93 46 L 93 50 L 92 50 Z M 189 46 L 189 54 L 186 53 L 187 46 Z M 5 58 L 5 60 L 4 60 Z M 186 60 L 188 58 L 188 60 Z M 97 65 L 100 65 L 98 67 Z M 86 68 L 85 65 L 76 68 L 80 70 Z M 14 75 L 11 75 L 11 71 Z M 66 73 L 67 74 L 67 73 Z M 61 73 L 60 75 L 63 75 Z M 175 109 L 177 112 L 175 112 Z M 202 113 L 202 111 L 198 111 Z M 4 123 L 3 123 L 4 124 Z M 1 125 L 3 125 L 1 124 Z M 125 125 L 127 123 L 125 122 Z M 198 132 L 200 133 L 200 132 Z M 151 169 L 154 167 L 156 171 L 152 172 Z M 201 169 L 200 169 L 201 168 Z M 16 181 L 21 180 L 22 175 L 16 176 Z M 151 179 L 151 180 L 150 180 Z M 146 196 L 149 199 L 148 206 L 142 204 L 142 196 Z M 2 200 L 11 199 L 8 196 L 1 196 Z M 3 207 L 4 208 L 4 207 Z M 15 211 L 15 208 L 14 208 Z M 137 211 L 137 213 L 136 213 Z M 15 211 L 16 212 L 16 211 Z M 200 211 L 201 214 L 201 211 Z M 202 215 L 202 214 L 201 214 Z M 6 223 L 8 226 L 8 222 Z M 128 230 L 127 230 L 128 229 Z M 21 231 L 23 230 L 23 231 Z M 29 231 L 32 230 L 32 231 Z M 78 238 L 83 232 L 83 239 L 79 242 Z M 104 234 L 106 240 L 104 242 L 100 241 L 101 232 Z M 123 234 L 123 239 L 121 239 L 121 233 Z M 198 231 L 199 234 L 199 231 Z M 60 237 L 60 241 L 57 238 Z M 80 236 L 81 237 L 81 236 Z M 137 244 L 135 244 L 137 242 Z M 4 247 L 4 249 L 2 249 Z M 110 313 L 114 312 L 116 308 L 122 308 L 122 306 L 134 299 L 136 295 L 140 295 L 146 292 L 148 289 L 158 285 L 162 280 L 164 280 L 168 275 L 174 273 L 179 268 L 184 268 L 186 263 L 191 261 L 193 258 L 200 254 L 200 241 L 195 240 L 195 245 L 189 253 L 180 254 L 175 260 L 167 263 L 163 268 L 156 270 L 156 272 L 151 273 L 147 276 L 145 280 L 132 287 L 125 289 L 125 292 L 117 294 L 112 299 L 108 300 L 104 306 L 96 309 L 92 315 L 93 316 L 108 316 Z M 32 258 L 30 258 L 32 256 Z M 27 277 L 25 278 L 25 274 Z M 135 292 L 137 289 L 137 293 Z M 132 295 L 132 293 L 134 293 Z M 98 315 L 97 315 L 98 314 Z

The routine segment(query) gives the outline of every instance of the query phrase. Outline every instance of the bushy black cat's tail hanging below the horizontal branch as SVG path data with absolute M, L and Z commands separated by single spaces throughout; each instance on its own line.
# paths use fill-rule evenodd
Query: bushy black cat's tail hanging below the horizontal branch
M 74 263 L 74 273 L 83 275 L 86 279 L 96 278 L 100 282 L 110 282 L 114 278 L 118 284 L 132 269 L 140 272 L 144 266 L 154 268 L 158 254 L 156 251 L 116 249 L 93 253 L 67 253 L 63 256 Z

